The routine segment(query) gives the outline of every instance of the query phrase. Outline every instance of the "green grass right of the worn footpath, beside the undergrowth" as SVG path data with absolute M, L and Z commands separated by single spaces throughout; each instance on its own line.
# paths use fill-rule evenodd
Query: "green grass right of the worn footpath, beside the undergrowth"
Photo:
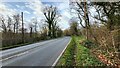
M 77 43 L 77 52 L 76 52 L 76 66 L 102 66 L 98 59 L 96 59 L 90 53 L 90 49 L 79 44 L 79 40 L 84 39 L 83 37 L 75 37 Z

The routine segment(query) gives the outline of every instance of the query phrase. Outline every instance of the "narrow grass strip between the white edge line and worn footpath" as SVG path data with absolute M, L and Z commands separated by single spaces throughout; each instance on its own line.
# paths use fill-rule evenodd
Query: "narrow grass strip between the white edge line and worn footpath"
M 75 50 L 75 40 L 72 37 L 71 42 L 66 48 L 64 54 L 61 56 L 57 63 L 57 66 L 72 66 L 74 65 L 74 50 Z

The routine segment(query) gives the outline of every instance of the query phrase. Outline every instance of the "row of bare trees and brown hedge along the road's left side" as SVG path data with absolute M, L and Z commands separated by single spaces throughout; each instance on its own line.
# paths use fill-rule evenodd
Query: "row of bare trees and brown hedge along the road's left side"
M 44 22 L 42 25 L 36 18 L 33 18 L 30 23 L 25 23 L 24 12 L 13 16 L 1 15 L 2 47 L 61 37 L 63 32 L 57 24 L 60 16 L 57 8 L 47 6 L 43 13 L 45 19 L 42 20 Z

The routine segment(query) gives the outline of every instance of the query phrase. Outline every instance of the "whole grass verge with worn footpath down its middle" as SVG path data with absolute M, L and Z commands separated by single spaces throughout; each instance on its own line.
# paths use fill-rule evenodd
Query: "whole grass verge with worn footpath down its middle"
M 73 36 L 56 66 L 102 66 L 103 63 L 79 43 L 83 39 L 84 37 Z

